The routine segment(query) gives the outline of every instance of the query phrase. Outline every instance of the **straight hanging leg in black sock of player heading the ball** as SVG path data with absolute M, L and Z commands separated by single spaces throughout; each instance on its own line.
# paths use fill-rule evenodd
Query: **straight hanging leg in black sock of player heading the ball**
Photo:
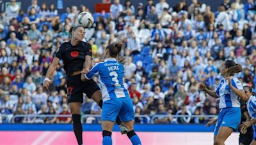
M 73 129 L 78 144 L 83 144 L 83 127 L 81 123 L 81 102 L 70 102 L 68 104 L 72 113 Z

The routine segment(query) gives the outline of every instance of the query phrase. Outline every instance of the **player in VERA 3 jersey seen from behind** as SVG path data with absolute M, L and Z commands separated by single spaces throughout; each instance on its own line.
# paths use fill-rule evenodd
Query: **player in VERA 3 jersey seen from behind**
M 99 74 L 103 99 L 101 124 L 104 145 L 112 144 L 111 134 L 116 116 L 119 116 L 122 124 L 128 128 L 127 136 L 132 144 L 141 144 L 140 138 L 133 130 L 132 100 L 123 85 L 124 66 L 115 59 L 121 48 L 122 43 L 108 45 L 104 53 L 104 62 L 95 64 L 90 72 L 81 76 L 81 79 L 86 81 L 86 79 L 92 79 L 95 74 Z

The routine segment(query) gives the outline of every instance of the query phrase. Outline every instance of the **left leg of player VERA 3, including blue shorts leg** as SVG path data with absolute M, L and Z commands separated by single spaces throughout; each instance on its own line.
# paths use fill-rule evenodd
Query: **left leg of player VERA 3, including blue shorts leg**
M 118 115 L 122 102 L 118 99 L 111 99 L 103 102 L 101 113 L 101 125 L 102 125 L 102 144 L 112 144 L 112 130 L 115 125 L 116 116 Z

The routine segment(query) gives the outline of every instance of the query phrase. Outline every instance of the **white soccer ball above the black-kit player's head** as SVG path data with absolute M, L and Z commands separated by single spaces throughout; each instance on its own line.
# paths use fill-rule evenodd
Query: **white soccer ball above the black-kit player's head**
M 93 25 L 94 18 L 91 13 L 83 11 L 77 15 L 77 21 L 82 27 L 90 28 Z

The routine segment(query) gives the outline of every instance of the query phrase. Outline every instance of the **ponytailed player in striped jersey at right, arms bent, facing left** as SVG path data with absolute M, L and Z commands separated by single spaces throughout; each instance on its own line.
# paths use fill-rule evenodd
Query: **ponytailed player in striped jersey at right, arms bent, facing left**
M 232 60 L 227 60 L 221 64 L 220 73 L 223 76 L 220 84 L 214 91 L 209 90 L 200 83 L 199 88 L 211 95 L 212 97 L 220 97 L 220 114 L 214 129 L 214 144 L 224 144 L 228 136 L 236 130 L 241 121 L 241 109 L 239 97 L 246 97 L 243 86 L 234 73 L 240 72 L 242 67 Z

